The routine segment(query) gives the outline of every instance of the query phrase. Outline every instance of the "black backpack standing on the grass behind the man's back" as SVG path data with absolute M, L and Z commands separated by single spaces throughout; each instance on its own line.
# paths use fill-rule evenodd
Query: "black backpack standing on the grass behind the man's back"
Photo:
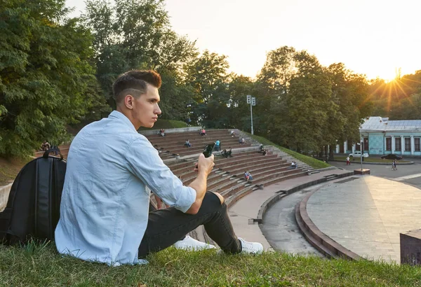
M 49 156 L 51 152 L 59 153 L 60 158 Z M 29 236 L 54 239 L 65 173 L 66 160 L 58 148 L 46 151 L 20 170 L 6 209 L 0 212 L 0 243 L 25 242 Z

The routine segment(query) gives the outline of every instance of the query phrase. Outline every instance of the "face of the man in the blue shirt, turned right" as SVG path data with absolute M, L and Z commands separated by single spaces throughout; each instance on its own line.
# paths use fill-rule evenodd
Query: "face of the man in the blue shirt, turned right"
M 160 101 L 158 89 L 147 84 L 146 93 L 138 99 L 134 99 L 132 116 L 136 121 L 136 129 L 139 127 L 153 127 L 158 115 L 161 114 L 158 103 Z

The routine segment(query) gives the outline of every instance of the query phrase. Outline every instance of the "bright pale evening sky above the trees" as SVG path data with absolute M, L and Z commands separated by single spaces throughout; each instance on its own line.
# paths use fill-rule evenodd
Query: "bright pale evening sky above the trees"
M 67 0 L 83 11 L 84 0 Z M 226 55 L 255 78 L 267 52 L 307 50 L 324 66 L 392 80 L 421 70 L 420 0 L 166 0 L 173 30 L 199 50 Z

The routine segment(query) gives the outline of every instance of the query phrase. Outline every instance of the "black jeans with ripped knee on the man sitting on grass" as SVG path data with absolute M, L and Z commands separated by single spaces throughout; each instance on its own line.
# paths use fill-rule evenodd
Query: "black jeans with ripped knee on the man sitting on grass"
M 197 214 L 184 214 L 174 207 L 150 211 L 139 258 L 173 245 L 199 225 L 204 226 L 209 237 L 225 253 L 241 252 L 241 244 L 229 221 L 227 204 L 221 204 L 217 195 L 207 192 Z

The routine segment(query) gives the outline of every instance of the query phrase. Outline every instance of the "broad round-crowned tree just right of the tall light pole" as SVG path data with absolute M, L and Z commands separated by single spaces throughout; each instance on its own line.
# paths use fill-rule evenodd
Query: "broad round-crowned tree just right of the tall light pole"
M 258 77 L 267 137 L 297 151 L 318 151 L 330 139 L 327 118 L 337 107 L 314 55 L 281 47 L 267 55 Z

